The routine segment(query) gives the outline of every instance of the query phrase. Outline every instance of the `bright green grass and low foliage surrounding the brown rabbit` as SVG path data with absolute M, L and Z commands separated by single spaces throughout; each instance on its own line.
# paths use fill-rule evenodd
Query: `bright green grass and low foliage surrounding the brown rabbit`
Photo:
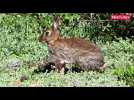
M 75 14 L 74 14 L 75 15 Z M 41 24 L 34 16 L 6 15 L 0 14 L 0 86 L 56 86 L 56 87 L 118 87 L 132 86 L 127 84 L 118 69 L 134 66 L 134 42 L 119 39 L 119 42 L 111 41 L 102 43 L 97 41 L 101 47 L 107 62 L 108 68 L 104 73 L 97 72 L 68 72 L 60 75 L 56 72 L 33 73 L 36 66 L 28 67 L 25 62 L 38 63 L 48 55 L 47 46 L 38 42 L 42 26 L 49 26 L 51 23 L 49 14 L 41 14 Z M 66 15 L 68 16 L 68 15 Z M 74 18 L 78 17 L 73 16 Z M 73 19 L 73 17 L 71 17 Z M 73 21 L 73 20 L 71 20 Z M 80 24 L 81 25 L 81 24 Z M 82 24 L 83 25 L 83 24 Z M 82 26 L 85 27 L 86 25 Z M 84 28 L 65 26 L 62 31 L 63 36 L 80 36 L 90 38 Z M 94 26 L 95 27 L 95 26 Z M 93 33 L 93 26 L 89 25 L 89 30 Z M 68 33 L 68 34 L 67 34 Z M 82 33 L 82 34 L 81 34 Z M 85 34 L 84 34 L 85 33 Z M 84 35 L 84 36 L 83 36 Z M 20 67 L 16 70 L 7 67 L 8 64 L 18 61 Z M 118 67 L 120 66 L 120 67 Z M 116 73 L 115 73 L 115 72 Z M 113 73 L 114 72 L 114 73 Z M 129 73 L 129 71 L 127 71 Z M 131 73 L 133 74 L 133 72 Z M 26 76 L 28 79 L 20 82 L 20 78 Z

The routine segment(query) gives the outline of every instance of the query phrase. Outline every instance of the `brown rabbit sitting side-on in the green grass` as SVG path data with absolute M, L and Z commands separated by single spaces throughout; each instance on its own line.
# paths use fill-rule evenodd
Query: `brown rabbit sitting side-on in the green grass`
M 39 41 L 47 43 L 48 62 L 53 62 L 58 72 L 63 73 L 65 64 L 77 64 L 82 70 L 102 70 L 105 68 L 100 49 L 93 43 L 78 38 L 62 38 L 59 33 L 59 17 L 40 37 Z

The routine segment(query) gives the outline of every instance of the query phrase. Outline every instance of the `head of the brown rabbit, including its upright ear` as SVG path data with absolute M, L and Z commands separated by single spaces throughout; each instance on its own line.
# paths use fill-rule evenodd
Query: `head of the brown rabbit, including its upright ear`
M 39 41 L 42 43 L 53 44 L 60 36 L 59 36 L 59 25 L 60 20 L 59 17 L 54 17 L 54 22 L 52 26 L 43 31 L 43 34 L 39 37 Z

